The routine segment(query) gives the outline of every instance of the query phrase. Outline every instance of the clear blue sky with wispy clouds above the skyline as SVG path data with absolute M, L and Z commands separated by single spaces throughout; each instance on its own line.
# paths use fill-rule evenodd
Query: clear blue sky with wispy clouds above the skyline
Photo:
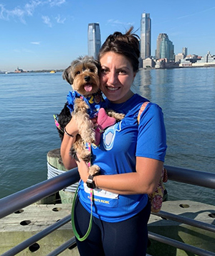
M 87 25 L 100 24 L 101 40 L 150 13 L 152 55 L 159 33 L 173 42 L 175 54 L 215 55 L 214 0 L 0 0 L 0 70 L 62 69 L 87 55 Z

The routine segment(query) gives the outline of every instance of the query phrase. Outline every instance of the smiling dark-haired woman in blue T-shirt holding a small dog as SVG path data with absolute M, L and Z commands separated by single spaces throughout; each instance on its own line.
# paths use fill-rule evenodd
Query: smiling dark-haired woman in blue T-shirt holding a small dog
M 94 190 L 92 229 L 85 241 L 77 240 L 80 255 L 145 255 L 148 243 L 147 223 L 151 212 L 148 193 L 161 178 L 166 154 L 166 131 L 161 108 L 131 91 L 138 72 L 139 43 L 133 27 L 123 35 L 110 35 L 100 49 L 100 88 L 108 108 L 125 118 L 108 127 L 98 147 L 92 147 L 92 164 L 100 166 L 99 175 L 90 177 Z M 61 146 L 65 167 L 75 166 L 70 147 L 78 133 L 74 120 L 66 127 L 68 134 Z M 90 186 L 88 167 L 77 163 L 82 179 L 75 204 L 75 226 L 84 236 L 90 221 Z M 89 179 L 88 179 L 89 181 Z

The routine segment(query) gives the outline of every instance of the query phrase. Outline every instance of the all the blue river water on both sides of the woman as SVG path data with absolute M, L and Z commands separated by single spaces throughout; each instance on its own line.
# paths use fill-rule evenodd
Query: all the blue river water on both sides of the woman
M 166 165 L 215 173 L 215 69 L 140 70 L 134 90 L 164 113 Z M 0 75 L 0 198 L 47 179 L 47 152 L 60 147 L 53 114 L 70 85 L 61 73 Z M 170 199 L 215 204 L 214 191 L 166 184 Z

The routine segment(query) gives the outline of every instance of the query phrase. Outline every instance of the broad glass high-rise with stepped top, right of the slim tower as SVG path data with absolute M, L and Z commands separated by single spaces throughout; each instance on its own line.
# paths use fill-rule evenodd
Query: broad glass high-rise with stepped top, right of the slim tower
M 162 33 L 158 35 L 156 59 L 174 60 L 174 45 L 171 40 L 168 39 L 168 35 Z

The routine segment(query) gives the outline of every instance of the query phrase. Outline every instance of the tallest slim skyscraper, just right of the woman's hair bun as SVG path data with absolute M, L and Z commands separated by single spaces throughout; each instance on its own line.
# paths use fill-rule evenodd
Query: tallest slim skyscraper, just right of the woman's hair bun
M 140 58 L 151 56 L 151 19 L 150 14 L 142 14 L 140 24 Z

